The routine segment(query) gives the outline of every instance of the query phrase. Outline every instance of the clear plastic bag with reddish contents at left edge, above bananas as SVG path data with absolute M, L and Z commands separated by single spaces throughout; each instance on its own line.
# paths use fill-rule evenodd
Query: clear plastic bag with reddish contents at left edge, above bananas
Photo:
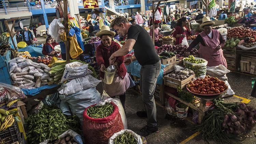
M 25 99 L 23 91 L 16 86 L 0 83 L 0 104 L 9 103 L 16 99 Z

